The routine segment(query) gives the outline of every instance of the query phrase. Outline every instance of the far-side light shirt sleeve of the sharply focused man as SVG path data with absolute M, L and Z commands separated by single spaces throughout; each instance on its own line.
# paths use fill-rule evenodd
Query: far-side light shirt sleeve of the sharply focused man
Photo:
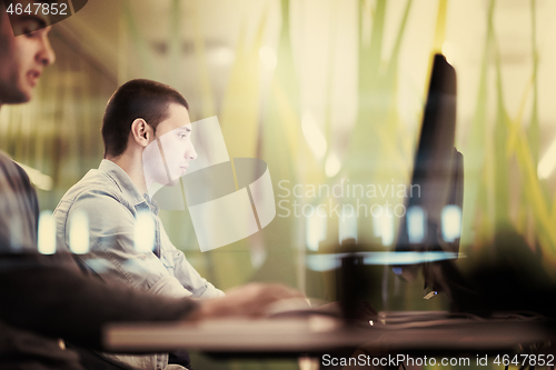
M 162 239 L 162 263 L 167 268 L 173 269 L 173 276 L 178 281 L 192 293 L 193 298 L 216 298 L 224 297 L 225 293 L 214 284 L 203 279 L 199 272 L 189 263 L 182 251 L 177 249 L 170 241 L 162 224 L 160 224 Z

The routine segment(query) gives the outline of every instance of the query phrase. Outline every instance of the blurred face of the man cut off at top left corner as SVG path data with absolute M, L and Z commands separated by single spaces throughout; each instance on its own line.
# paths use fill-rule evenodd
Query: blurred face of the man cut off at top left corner
M 20 3 L 24 9 L 29 1 Z M 29 101 L 43 68 L 54 61 L 48 40 L 50 27 L 41 28 L 48 21 L 44 17 L 23 12 L 13 14 L 10 23 L 0 1 L 0 104 Z M 12 27 L 26 34 L 13 37 Z

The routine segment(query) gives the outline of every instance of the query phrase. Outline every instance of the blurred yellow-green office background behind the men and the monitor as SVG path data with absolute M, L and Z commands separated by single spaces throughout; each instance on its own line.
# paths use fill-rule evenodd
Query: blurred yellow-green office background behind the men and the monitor
M 460 253 L 488 251 L 510 226 L 554 273 L 555 13 L 549 0 L 93 0 L 52 28 L 57 62 L 37 99 L 2 109 L 1 147 L 51 211 L 102 159 L 116 88 L 168 83 L 192 121 L 218 116 L 230 158 L 268 163 L 279 204 L 260 232 L 203 253 L 187 210 L 162 210 L 173 243 L 221 289 L 281 281 L 334 300 L 334 271 L 308 257 L 350 238 L 395 246 L 399 217 L 385 210 L 405 202 L 431 56 L 443 52 L 458 77 Z M 404 299 L 378 309 L 446 308 L 388 281 L 377 287 Z

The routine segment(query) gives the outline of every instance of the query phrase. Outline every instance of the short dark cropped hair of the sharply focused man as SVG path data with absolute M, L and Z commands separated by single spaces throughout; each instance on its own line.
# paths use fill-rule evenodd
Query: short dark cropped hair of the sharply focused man
M 168 118 L 168 107 L 177 103 L 189 109 L 176 89 L 151 80 L 131 80 L 118 88 L 106 107 L 102 118 L 105 158 L 121 156 L 128 147 L 131 123 L 142 118 L 156 131 Z

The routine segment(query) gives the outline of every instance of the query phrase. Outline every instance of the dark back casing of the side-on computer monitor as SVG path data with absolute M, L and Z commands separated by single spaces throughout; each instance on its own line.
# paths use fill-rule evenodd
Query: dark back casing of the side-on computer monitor
M 430 76 L 427 102 L 414 171 L 410 182 L 411 197 L 406 201 L 407 216 L 403 218 L 396 251 L 458 252 L 459 236 L 446 240 L 443 234 L 443 210 L 448 204 L 463 203 L 463 156 L 454 148 L 456 132 L 456 71 L 441 54 L 436 54 Z M 411 238 L 408 224 L 415 210 L 423 216 L 420 238 Z M 415 219 L 413 220 L 415 223 Z M 413 226 L 415 227 L 415 226 Z M 459 224 L 460 227 L 460 224 Z M 429 263 L 398 266 L 394 271 L 406 280 L 414 280 L 419 268 Z M 427 281 L 429 273 L 425 271 Z

